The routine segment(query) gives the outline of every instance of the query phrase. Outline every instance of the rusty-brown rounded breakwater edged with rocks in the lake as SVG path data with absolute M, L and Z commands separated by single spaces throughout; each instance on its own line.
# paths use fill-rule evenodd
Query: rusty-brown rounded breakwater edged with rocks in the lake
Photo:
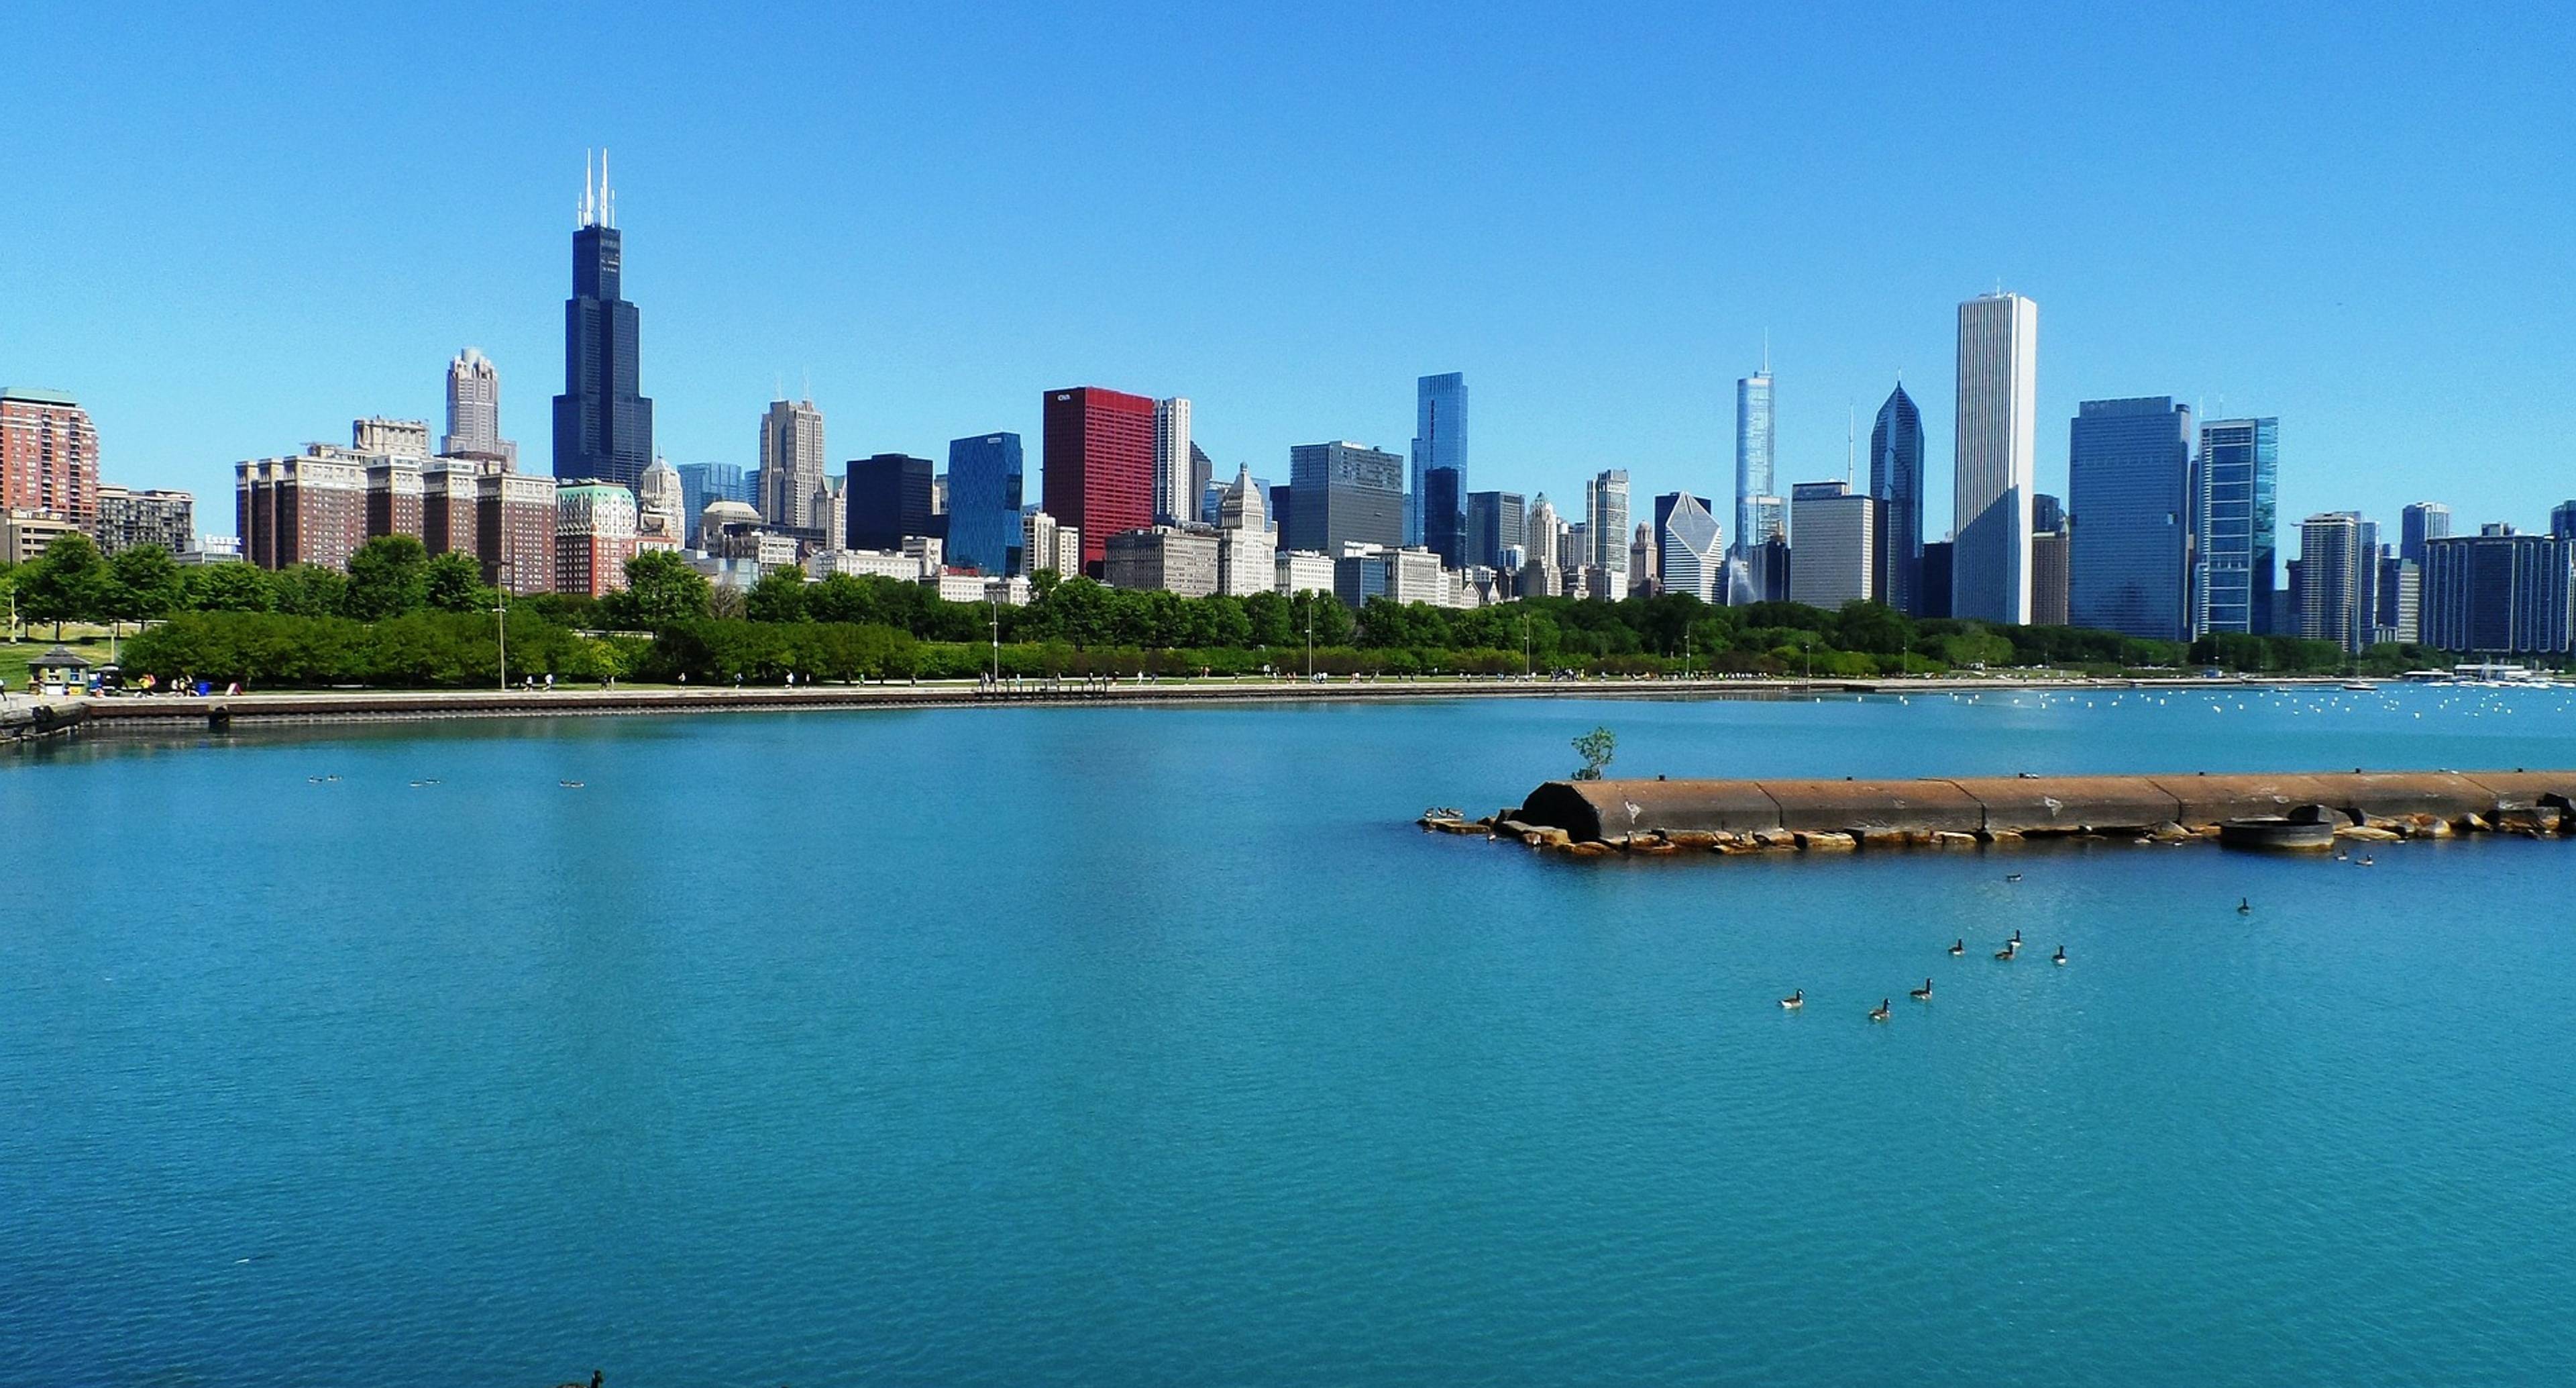
M 1989 775 L 1932 780 L 1551 780 L 1486 819 L 1427 829 L 1540 850 L 1832 852 L 2040 837 L 2215 839 L 2221 824 L 2324 816 L 2344 839 L 2576 832 L 2576 770 Z

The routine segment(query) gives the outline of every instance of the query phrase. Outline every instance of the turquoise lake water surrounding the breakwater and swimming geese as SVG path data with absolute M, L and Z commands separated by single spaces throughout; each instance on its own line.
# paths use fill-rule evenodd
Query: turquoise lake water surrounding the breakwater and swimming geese
M 1595 724 L 1613 775 L 2576 765 L 2504 690 L 0 757 L 0 1383 L 2571 1375 L 2576 845 L 1412 829 Z

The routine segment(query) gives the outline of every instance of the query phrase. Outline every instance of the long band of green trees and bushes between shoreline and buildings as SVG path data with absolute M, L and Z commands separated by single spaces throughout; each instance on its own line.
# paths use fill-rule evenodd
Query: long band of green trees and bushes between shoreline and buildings
M 1041 572 L 1025 608 L 948 603 L 925 585 L 796 569 L 750 590 L 714 587 L 683 556 L 629 559 L 626 587 L 502 597 L 464 554 L 374 538 L 345 574 L 317 567 L 178 567 L 157 549 L 98 556 L 64 536 L 0 574 L 26 621 L 134 621 L 134 670 L 260 685 L 459 685 L 510 670 L 559 677 L 819 680 L 1051 675 L 1819 675 L 1875 677 L 1960 667 L 2334 672 L 2331 641 L 2210 636 L 2141 641 L 2066 626 L 1909 618 L 1883 603 L 1713 608 L 1692 595 L 1623 603 L 1522 597 L 1492 608 L 1350 610 L 1332 595 L 1180 597 Z M 2432 657 L 2380 646 L 2367 670 Z

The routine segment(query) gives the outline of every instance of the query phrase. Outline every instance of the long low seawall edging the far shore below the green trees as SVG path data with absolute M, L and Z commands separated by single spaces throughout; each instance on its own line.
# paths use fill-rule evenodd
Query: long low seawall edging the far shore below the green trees
M 294 724 L 386 724 L 422 718 L 564 718 L 652 713 L 775 713 L 866 708 L 1077 708 L 1077 706 L 1218 706 L 1218 703 L 1386 703 L 1435 698 L 1741 698 L 1788 700 L 1824 695 L 1947 695 L 2025 690 L 2264 690 L 2339 688 L 2336 677 L 2174 677 L 2174 680 L 1115 680 L 1115 682 L 979 682 L 716 688 L 675 685 L 621 690 L 291 690 L 245 695 L 113 695 L 67 698 L 82 731 L 165 734 L 229 731 Z M 13 695 L 28 708 L 26 695 Z

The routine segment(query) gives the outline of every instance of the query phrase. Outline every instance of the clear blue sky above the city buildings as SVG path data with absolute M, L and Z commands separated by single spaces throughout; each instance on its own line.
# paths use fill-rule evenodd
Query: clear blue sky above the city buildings
M 106 476 L 440 420 L 502 371 L 549 464 L 582 149 L 611 147 L 675 464 L 757 461 L 811 381 L 840 458 L 1100 384 L 1291 443 L 1412 435 L 1466 371 L 1468 487 L 1780 484 L 1888 384 L 1947 525 L 1955 304 L 2040 304 L 2040 487 L 2079 399 L 2280 415 L 2280 515 L 2576 494 L 2553 5 L 36 5 L 0 95 L 0 381 Z M 1033 479 L 1036 482 L 1036 479 Z M 1643 510 L 1641 510 L 1643 512 Z M 1726 515 L 1726 510 L 1718 510 Z

